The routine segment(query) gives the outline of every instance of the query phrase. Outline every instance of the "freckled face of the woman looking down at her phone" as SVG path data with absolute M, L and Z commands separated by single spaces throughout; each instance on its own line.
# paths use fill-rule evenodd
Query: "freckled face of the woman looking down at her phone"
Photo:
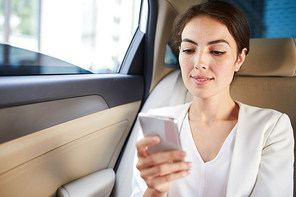
M 181 36 L 179 61 L 187 89 L 199 98 L 229 94 L 246 49 L 237 57 L 237 45 L 227 27 L 207 16 L 191 19 Z

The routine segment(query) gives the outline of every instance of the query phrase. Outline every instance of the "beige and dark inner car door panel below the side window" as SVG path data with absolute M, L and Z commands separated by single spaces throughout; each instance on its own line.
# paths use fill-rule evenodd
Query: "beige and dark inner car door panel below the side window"
M 114 168 L 141 106 L 141 76 L 20 78 L 0 85 L 1 196 L 55 196 Z

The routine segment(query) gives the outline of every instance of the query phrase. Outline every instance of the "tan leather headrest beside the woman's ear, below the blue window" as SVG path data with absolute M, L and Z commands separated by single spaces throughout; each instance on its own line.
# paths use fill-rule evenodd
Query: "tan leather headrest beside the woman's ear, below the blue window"
M 237 75 L 296 76 L 294 38 L 251 39 L 250 53 Z

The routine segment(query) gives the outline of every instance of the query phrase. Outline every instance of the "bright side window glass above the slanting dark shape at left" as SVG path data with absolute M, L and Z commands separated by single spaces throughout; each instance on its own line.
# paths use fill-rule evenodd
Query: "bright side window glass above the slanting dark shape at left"
M 141 0 L 0 0 L 0 42 L 93 73 L 117 73 L 138 27 L 140 5 Z

